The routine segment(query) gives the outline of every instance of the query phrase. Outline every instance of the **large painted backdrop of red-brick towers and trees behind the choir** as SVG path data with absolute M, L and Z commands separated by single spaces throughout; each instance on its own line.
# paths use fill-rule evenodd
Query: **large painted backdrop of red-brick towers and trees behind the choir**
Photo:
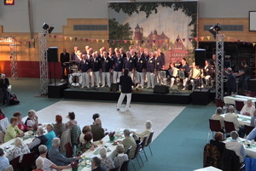
M 109 3 L 108 10 L 110 47 L 160 48 L 168 63 L 194 58 L 197 2 Z

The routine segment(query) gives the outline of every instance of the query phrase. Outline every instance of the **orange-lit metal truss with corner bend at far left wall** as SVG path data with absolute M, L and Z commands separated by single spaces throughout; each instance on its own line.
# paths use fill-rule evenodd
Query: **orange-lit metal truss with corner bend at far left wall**
M 11 66 L 11 77 L 18 78 L 17 68 L 17 43 L 15 37 L 0 37 L 0 42 L 9 43 L 9 60 Z

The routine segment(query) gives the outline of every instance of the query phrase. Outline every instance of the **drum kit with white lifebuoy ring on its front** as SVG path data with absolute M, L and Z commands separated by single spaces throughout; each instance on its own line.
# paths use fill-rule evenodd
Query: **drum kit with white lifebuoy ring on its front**
M 79 88 L 82 86 L 82 74 L 79 72 L 79 67 L 76 65 L 75 60 L 65 62 L 68 66 L 68 84 L 73 88 Z

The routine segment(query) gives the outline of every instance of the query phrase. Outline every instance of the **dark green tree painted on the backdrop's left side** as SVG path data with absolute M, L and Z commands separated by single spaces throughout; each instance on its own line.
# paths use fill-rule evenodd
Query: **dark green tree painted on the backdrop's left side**
M 130 41 L 132 39 L 131 26 L 129 23 L 125 23 L 125 25 L 119 24 L 119 22 L 115 19 L 108 20 L 109 26 L 109 47 L 111 48 L 121 48 L 123 47 L 125 50 L 129 49 L 131 45 Z M 112 42 L 111 40 L 122 40 L 121 42 Z M 124 43 L 123 40 L 128 40 L 127 43 Z

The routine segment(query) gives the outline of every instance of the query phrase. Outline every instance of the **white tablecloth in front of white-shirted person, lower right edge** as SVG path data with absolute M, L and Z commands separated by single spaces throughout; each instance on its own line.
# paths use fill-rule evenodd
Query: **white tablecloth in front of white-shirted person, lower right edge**
M 226 143 L 230 140 L 231 140 L 231 138 L 229 137 L 227 140 L 224 141 L 224 143 Z M 252 144 L 252 142 L 250 140 L 246 140 L 246 139 L 242 139 L 242 138 L 238 138 L 238 142 L 240 142 L 244 146 L 245 151 L 247 153 L 247 157 L 256 158 L 255 142 Z M 247 144 L 250 144 L 250 147 L 248 147 Z

